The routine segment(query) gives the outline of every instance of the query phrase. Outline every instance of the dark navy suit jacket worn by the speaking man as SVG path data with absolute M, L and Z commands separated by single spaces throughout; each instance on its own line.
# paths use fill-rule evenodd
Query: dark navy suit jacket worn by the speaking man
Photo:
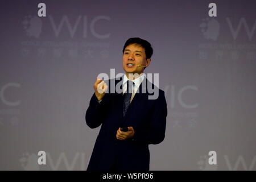
M 122 77 L 112 80 L 115 85 Z M 108 89 L 110 90 L 111 82 Z M 146 81 L 146 84 L 143 83 Z M 85 114 L 87 125 L 94 129 L 101 125 L 100 133 L 94 144 L 88 171 L 109 171 L 117 162 L 121 171 L 149 170 L 150 152 L 148 144 L 158 144 L 164 140 L 166 131 L 167 104 L 164 91 L 158 89 L 159 96 L 149 100 L 148 83 L 144 78 L 123 117 L 123 94 L 106 93 L 101 103 L 93 94 Z M 154 89 L 155 85 L 151 84 Z M 122 86 L 121 86 L 122 88 Z M 146 93 L 143 92 L 146 90 Z M 139 92 L 139 93 L 138 93 Z M 118 140 L 115 135 L 119 127 L 134 128 L 134 137 Z

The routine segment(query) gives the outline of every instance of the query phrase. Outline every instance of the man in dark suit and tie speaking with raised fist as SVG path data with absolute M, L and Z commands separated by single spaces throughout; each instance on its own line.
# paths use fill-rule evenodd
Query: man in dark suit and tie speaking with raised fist
M 151 82 L 143 73 L 151 62 L 151 44 L 140 38 L 130 38 L 122 52 L 125 71 L 121 77 L 122 92 L 106 92 L 110 86 L 99 78 L 94 83 L 95 92 L 85 119 L 92 129 L 102 126 L 87 170 L 148 171 L 148 144 L 158 144 L 165 136 L 167 104 L 164 92 L 152 84 L 159 95 L 155 100 L 148 99 L 152 94 L 148 92 Z M 115 86 L 118 79 L 114 79 Z M 121 131 L 121 127 L 128 130 Z

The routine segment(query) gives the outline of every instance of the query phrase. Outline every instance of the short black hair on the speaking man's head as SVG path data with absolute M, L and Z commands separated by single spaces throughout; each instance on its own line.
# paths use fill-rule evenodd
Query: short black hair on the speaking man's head
M 126 40 L 125 46 L 123 46 L 123 52 L 125 51 L 125 48 L 129 46 L 130 44 L 138 44 L 139 46 L 143 47 L 145 49 L 146 53 L 146 59 L 150 59 L 153 54 L 153 49 L 151 47 L 151 44 L 147 42 L 147 40 L 141 39 L 141 38 L 130 38 Z

